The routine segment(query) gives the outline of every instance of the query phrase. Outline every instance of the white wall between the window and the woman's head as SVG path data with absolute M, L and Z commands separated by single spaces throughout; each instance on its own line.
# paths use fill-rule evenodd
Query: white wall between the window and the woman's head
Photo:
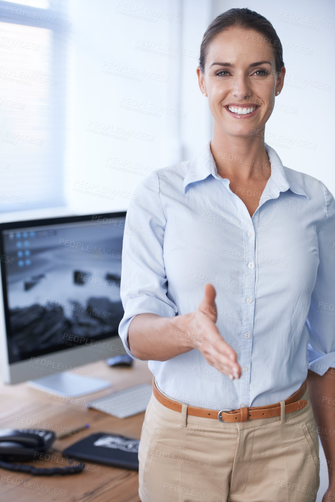
M 210 137 L 195 73 L 210 3 L 91 6 L 72 2 L 66 191 L 71 210 L 84 213 L 127 209 L 143 176 L 192 157 Z

